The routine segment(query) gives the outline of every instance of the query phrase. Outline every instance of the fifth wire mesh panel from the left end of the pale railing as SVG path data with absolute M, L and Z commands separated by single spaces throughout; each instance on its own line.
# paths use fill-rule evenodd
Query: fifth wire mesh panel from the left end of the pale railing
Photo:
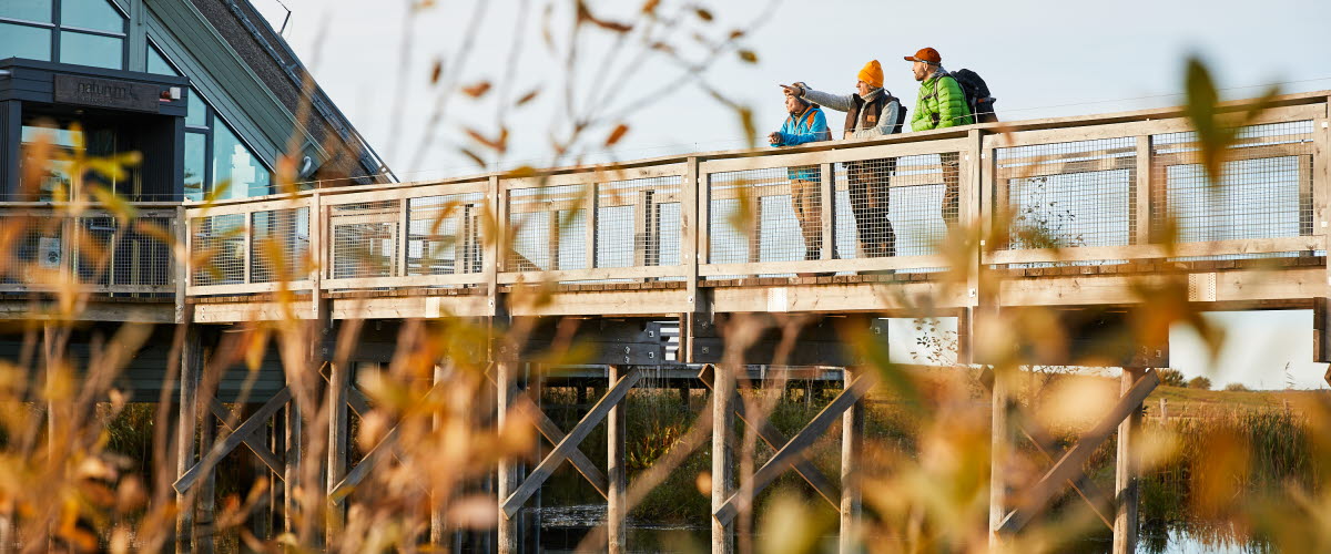
M 510 190 L 507 270 L 586 270 L 590 194 L 588 185 Z

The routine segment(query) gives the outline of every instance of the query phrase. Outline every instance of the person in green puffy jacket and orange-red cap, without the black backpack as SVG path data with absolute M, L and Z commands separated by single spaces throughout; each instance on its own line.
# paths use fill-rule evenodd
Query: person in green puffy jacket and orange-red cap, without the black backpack
M 961 90 L 957 80 L 942 69 L 942 56 L 938 50 L 921 48 L 905 60 L 912 62 L 910 72 L 914 73 L 916 81 L 920 81 L 914 116 L 910 116 L 910 130 L 944 129 L 976 122 L 966 104 L 966 93 Z M 961 170 L 957 153 L 942 153 L 938 157 L 942 162 L 944 185 L 940 211 L 944 225 L 950 231 L 957 225 L 961 207 Z

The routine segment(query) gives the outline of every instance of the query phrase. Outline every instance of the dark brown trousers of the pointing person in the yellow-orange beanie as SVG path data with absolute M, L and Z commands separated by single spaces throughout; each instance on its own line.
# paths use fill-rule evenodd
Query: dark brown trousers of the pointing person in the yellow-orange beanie
M 890 194 L 889 177 L 897 170 L 896 158 L 847 162 L 845 175 L 851 185 L 851 211 L 860 246 L 868 258 L 894 256 L 897 234 L 888 218 Z

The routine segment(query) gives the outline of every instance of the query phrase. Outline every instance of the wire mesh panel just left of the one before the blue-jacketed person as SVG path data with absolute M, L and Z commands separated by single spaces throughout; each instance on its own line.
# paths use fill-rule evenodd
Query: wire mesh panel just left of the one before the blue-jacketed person
M 681 182 L 667 175 L 598 185 L 596 267 L 679 264 Z

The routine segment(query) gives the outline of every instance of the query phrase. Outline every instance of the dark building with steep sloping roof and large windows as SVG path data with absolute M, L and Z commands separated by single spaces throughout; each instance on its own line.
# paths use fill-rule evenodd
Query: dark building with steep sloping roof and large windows
M 287 154 L 302 187 L 394 181 L 306 78 L 246 0 L 3 0 L 0 194 L 47 201 L 71 185 L 59 161 L 21 182 L 23 143 L 43 133 L 88 155 L 141 153 L 121 178 L 88 175 L 132 201 L 224 183 L 222 198 L 270 194 Z

